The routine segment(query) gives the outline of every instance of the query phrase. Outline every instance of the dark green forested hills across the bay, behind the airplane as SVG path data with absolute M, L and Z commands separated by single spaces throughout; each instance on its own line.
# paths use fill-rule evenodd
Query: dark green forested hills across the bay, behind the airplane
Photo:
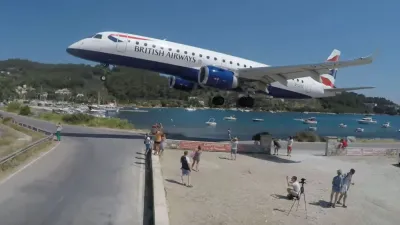
M 116 99 L 120 103 L 139 103 L 163 106 L 187 106 L 196 104 L 188 97 L 196 96 L 206 104 L 217 92 L 226 96 L 228 106 L 234 104 L 235 95 L 214 89 L 197 90 L 192 93 L 168 88 L 166 77 L 157 73 L 118 67 L 108 77 L 105 85 L 100 81 L 103 70 L 99 66 L 83 64 L 43 64 L 21 59 L 0 61 L 0 100 L 17 98 L 17 86 L 32 87 L 26 98 L 37 98 L 47 92 L 48 99 L 59 98 L 54 92 L 67 88 L 75 98 L 83 94 L 83 101 L 96 101 L 98 91 L 105 101 Z M 82 101 L 82 99 L 80 99 Z M 366 107 L 366 103 L 376 103 L 377 107 Z M 313 100 L 266 99 L 257 96 L 256 106 L 265 110 L 289 111 L 329 111 L 354 113 L 400 114 L 396 105 L 385 98 L 366 97 L 355 93 L 344 93 L 332 98 Z M 368 104 L 367 104 L 368 105 Z M 371 105 L 371 104 L 369 104 Z

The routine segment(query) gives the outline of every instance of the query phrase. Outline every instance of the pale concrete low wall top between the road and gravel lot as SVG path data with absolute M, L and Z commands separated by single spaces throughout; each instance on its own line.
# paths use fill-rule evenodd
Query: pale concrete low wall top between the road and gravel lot
M 168 204 L 161 172 L 160 158 L 151 155 L 153 175 L 154 225 L 169 225 Z

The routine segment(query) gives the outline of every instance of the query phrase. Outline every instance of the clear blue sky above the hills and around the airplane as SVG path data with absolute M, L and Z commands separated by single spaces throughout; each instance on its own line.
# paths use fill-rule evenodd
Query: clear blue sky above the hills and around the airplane
M 396 71 L 400 1 L 2 0 L 0 60 L 88 63 L 66 47 L 100 31 L 167 38 L 268 65 L 379 54 L 373 64 L 341 69 L 336 86 L 375 86 L 359 93 L 400 103 Z

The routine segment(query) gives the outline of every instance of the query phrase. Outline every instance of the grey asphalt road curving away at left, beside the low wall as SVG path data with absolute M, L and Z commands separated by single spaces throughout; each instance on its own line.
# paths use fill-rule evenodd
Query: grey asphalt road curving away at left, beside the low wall
M 16 116 L 49 131 L 55 125 Z M 47 155 L 0 183 L 4 225 L 143 224 L 142 137 L 76 126 Z

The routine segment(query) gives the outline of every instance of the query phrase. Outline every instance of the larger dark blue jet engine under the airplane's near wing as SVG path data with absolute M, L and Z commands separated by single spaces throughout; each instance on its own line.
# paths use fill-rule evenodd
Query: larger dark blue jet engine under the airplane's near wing
M 234 89 L 239 86 L 235 73 L 215 66 L 203 66 L 198 75 L 200 86 L 214 87 L 222 90 Z

